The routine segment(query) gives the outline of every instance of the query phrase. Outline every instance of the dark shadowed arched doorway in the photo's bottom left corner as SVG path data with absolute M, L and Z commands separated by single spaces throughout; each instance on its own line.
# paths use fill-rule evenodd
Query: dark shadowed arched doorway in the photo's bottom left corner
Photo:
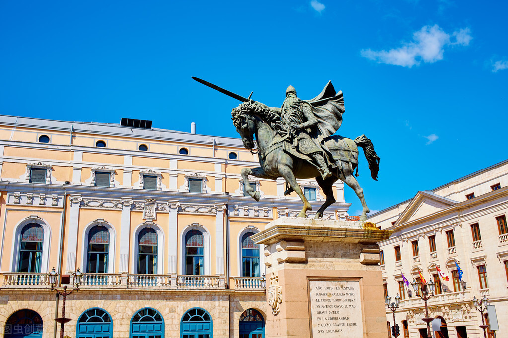
M 5 338 L 42 338 L 41 316 L 28 309 L 13 313 L 5 323 Z

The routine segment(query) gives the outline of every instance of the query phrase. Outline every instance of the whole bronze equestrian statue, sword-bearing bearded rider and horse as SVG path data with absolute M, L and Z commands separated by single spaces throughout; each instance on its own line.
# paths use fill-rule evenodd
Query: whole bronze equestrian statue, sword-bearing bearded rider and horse
M 362 203 L 360 220 L 367 219 L 370 210 L 363 189 L 353 175 L 356 168 L 358 176 L 357 146 L 364 149 L 374 180 L 377 180 L 380 158 L 371 140 L 365 135 L 354 140 L 333 135 L 342 123 L 344 101 L 342 92 L 336 93 L 331 82 L 328 82 L 320 95 L 311 100 L 298 98 L 295 88 L 289 86 L 286 98 L 278 108 L 268 107 L 251 100 L 250 96 L 242 97 L 201 79 L 193 79 L 243 101 L 233 108 L 231 115 L 243 145 L 251 152 L 255 149 L 256 137 L 260 167 L 241 170 L 245 191 L 252 198 L 259 201 L 260 194 L 248 184 L 249 175 L 273 180 L 283 177 L 289 185 L 284 195 L 295 191 L 303 201 L 303 209 L 298 217 L 306 217 L 306 211 L 312 210 L 312 206 L 296 179 L 314 177 L 326 196 L 325 203 L 315 215 L 319 218 L 335 202 L 332 187 L 340 179 L 355 191 Z

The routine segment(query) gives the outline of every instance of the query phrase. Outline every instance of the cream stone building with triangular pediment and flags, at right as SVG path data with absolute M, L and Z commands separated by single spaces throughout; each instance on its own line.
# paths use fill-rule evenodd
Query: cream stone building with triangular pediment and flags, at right
M 427 337 L 422 321 L 424 301 L 411 285 L 405 286 L 402 278 L 404 275 L 409 282 L 415 280 L 421 285 L 420 273 L 427 282 L 435 282 L 427 305 L 429 317 L 440 318 L 443 323 L 436 336 L 484 337 L 479 327 L 482 315 L 472 302 L 473 297 L 484 296 L 494 305 L 499 326 L 497 331 L 487 329 L 487 336 L 507 336 L 507 214 L 505 160 L 431 191 L 419 191 L 414 198 L 368 217 L 382 230 L 393 231 L 379 246 L 385 295 L 401 297 L 395 312 L 401 337 Z M 439 275 L 438 268 L 448 281 Z M 483 320 L 489 323 L 486 312 Z M 393 325 L 390 310 L 387 321 L 388 326 Z

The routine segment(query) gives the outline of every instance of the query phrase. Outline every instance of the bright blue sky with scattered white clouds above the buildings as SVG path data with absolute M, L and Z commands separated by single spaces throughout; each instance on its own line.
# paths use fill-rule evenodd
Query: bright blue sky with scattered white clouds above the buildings
M 342 90 L 338 134 L 366 134 L 359 182 L 380 210 L 507 158 L 506 2 L 0 3 L 0 114 L 153 120 L 236 137 L 239 102 L 191 76 L 280 106 Z M 213 119 L 214 122 L 211 122 Z M 350 213 L 360 209 L 345 189 Z

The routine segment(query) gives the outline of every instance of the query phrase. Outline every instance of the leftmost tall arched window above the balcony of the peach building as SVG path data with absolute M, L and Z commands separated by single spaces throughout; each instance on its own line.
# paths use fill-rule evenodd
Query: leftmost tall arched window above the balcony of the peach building
M 44 230 L 37 223 L 26 224 L 21 230 L 18 272 L 41 272 Z

